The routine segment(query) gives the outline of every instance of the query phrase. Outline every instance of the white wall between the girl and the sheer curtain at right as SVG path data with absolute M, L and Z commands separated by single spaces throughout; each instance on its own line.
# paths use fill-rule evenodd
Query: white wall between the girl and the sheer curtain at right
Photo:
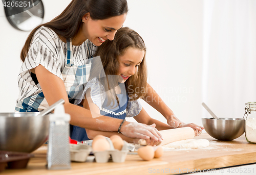
M 201 125 L 203 1 L 131 0 L 128 6 L 124 26 L 145 41 L 148 82 L 178 118 Z

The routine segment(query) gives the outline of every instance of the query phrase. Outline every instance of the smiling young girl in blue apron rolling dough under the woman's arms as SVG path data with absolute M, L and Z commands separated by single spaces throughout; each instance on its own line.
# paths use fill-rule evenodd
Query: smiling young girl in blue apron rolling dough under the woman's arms
M 156 124 L 156 129 L 172 129 L 168 124 L 151 118 L 137 102 L 147 91 L 146 47 L 143 39 L 127 27 L 117 31 L 113 41 L 105 41 L 98 47 L 92 62 L 89 82 L 84 88 L 83 107 L 99 115 L 123 119 L 134 117 L 147 125 Z M 99 60 L 97 60 L 99 59 Z M 75 103 L 79 104 L 82 99 Z M 81 141 L 93 139 L 102 134 L 110 137 L 119 134 L 128 142 L 138 139 L 126 137 L 117 132 L 102 132 L 75 127 L 72 139 Z M 151 144 L 155 144 L 152 142 Z

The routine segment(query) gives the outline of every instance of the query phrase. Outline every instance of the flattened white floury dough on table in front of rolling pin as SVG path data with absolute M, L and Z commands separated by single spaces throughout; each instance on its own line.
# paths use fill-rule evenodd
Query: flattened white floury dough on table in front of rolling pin
M 209 146 L 207 139 L 186 139 L 163 145 L 163 147 L 171 148 L 202 148 Z

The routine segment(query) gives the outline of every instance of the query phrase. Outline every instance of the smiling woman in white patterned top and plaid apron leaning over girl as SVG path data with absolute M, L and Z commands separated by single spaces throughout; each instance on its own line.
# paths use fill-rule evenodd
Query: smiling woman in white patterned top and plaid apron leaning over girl
M 87 82 L 90 58 L 97 46 L 114 39 L 127 11 L 126 0 L 73 0 L 59 16 L 36 27 L 20 54 L 23 65 L 18 75 L 19 97 L 15 110 L 40 111 L 63 98 L 66 113 L 71 115 L 70 124 L 99 131 L 120 131 L 127 137 L 148 142 L 150 138 L 161 141 L 155 124 L 122 123 L 121 119 L 105 116 L 92 118 L 89 110 L 73 104 Z M 158 97 L 150 89 L 149 86 L 145 97 Z M 164 103 L 148 104 L 164 114 L 170 126 L 182 127 Z

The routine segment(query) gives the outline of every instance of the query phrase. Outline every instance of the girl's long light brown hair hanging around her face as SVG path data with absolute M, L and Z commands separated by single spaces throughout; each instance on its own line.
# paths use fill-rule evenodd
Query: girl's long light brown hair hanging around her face
M 140 49 L 141 51 L 145 51 L 146 54 L 146 46 L 141 36 L 134 30 L 124 27 L 117 31 L 114 40 L 106 40 L 100 46 L 98 46 L 97 51 L 94 55 L 100 56 L 104 72 L 99 72 L 98 70 L 100 69 L 92 67 L 92 76 L 102 77 L 102 75 L 105 73 L 106 78 L 101 78 L 100 81 L 104 85 L 106 92 L 109 92 L 106 94 L 112 99 L 112 102 L 114 102 L 114 98 L 111 96 L 113 96 L 113 94 L 115 94 L 116 96 L 116 92 L 114 89 L 119 76 L 115 77 L 110 75 L 116 75 L 118 73 L 118 57 L 122 56 L 127 48 Z M 129 95 L 130 101 L 134 101 L 146 95 L 147 68 L 145 54 L 142 62 L 138 66 L 137 72 L 125 81 L 126 92 Z M 96 74 L 100 76 L 95 76 Z M 108 104 L 110 103 L 111 102 L 108 102 Z

